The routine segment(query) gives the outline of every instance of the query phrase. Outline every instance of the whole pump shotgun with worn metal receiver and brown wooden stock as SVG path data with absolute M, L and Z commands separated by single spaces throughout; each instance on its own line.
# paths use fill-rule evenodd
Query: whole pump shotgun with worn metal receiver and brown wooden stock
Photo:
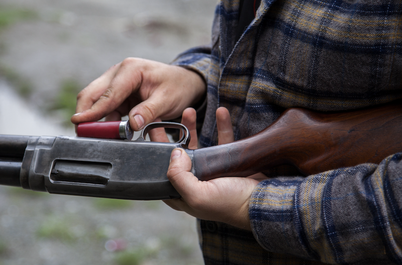
M 176 143 L 145 141 L 157 127 L 181 129 Z M 187 149 L 187 128 L 152 123 L 136 141 L 0 135 L 0 184 L 50 193 L 170 199 L 180 195 L 166 177 L 170 153 L 184 148 L 200 180 L 245 177 L 281 164 L 309 175 L 379 163 L 402 151 L 402 104 L 341 113 L 286 110 L 260 133 L 225 145 Z

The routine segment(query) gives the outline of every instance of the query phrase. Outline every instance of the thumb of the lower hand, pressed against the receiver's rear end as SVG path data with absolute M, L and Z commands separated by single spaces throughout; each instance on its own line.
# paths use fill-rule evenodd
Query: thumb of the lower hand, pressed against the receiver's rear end
M 198 179 L 189 172 L 191 170 L 191 159 L 187 153 L 176 148 L 170 155 L 170 164 L 167 170 L 167 178 L 177 192 L 185 197 L 191 193 L 191 189 L 196 186 Z

